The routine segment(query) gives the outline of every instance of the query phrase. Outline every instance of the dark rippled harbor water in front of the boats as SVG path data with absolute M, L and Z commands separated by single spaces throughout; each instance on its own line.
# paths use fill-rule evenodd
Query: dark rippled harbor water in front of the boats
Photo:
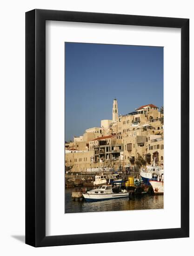
M 65 189 L 65 213 L 125 211 L 142 209 L 163 209 L 163 195 L 133 196 L 130 198 L 112 199 L 99 202 L 73 201 L 71 194 L 74 188 Z

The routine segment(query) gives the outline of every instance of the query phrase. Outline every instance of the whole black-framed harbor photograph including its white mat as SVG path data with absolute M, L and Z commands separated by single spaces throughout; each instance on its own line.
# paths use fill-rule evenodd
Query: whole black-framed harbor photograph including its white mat
M 189 236 L 189 20 L 26 13 L 26 243 Z

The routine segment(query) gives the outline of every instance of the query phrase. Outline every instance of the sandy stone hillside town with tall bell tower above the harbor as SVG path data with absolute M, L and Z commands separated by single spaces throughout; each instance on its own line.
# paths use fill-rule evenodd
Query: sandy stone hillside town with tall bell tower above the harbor
M 127 172 L 153 163 L 163 168 L 163 107 L 137 107 L 119 115 L 114 99 L 112 120 L 101 120 L 99 127 L 88 128 L 83 135 L 74 136 L 73 142 L 66 142 L 66 173 Z

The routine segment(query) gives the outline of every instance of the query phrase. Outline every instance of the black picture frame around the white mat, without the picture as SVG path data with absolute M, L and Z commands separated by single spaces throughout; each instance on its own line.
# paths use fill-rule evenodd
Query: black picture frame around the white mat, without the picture
M 181 228 L 46 236 L 46 20 L 181 28 Z M 42 247 L 188 237 L 188 181 L 189 19 L 39 9 L 27 12 L 26 243 Z

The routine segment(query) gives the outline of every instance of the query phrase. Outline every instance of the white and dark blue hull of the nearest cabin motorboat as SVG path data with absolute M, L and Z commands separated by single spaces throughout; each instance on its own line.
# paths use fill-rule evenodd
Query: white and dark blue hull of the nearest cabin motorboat
M 84 193 L 82 195 L 87 202 L 96 202 L 96 201 L 125 198 L 129 196 L 129 193 L 113 193 L 113 194 L 105 194 L 105 195 Z

